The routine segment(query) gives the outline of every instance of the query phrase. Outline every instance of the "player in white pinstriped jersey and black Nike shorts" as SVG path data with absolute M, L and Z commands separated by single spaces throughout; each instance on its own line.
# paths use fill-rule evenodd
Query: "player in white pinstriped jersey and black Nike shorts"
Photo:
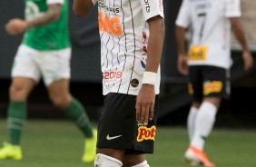
M 160 59 L 162 0 L 74 0 L 74 14 L 98 3 L 103 73 L 103 113 L 95 166 L 148 167 L 153 153 Z

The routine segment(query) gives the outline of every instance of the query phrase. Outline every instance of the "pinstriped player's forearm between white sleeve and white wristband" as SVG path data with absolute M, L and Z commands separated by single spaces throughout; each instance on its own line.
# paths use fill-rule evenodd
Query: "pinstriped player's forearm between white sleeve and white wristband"
M 148 41 L 148 57 L 145 71 L 157 73 L 162 57 L 164 40 L 164 21 L 160 16 L 149 21 L 150 36 Z

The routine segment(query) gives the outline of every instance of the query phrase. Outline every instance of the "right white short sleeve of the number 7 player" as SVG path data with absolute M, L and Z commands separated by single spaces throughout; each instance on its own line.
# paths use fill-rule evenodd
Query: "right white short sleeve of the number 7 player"
M 225 16 L 226 17 L 241 16 L 241 1 L 240 0 L 225 0 Z

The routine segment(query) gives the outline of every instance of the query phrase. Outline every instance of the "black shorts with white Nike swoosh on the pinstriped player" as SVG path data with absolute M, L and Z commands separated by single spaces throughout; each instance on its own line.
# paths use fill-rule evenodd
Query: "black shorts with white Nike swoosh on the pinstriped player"
M 153 121 L 147 126 L 136 122 L 136 95 L 108 93 L 98 126 L 98 148 L 122 149 L 125 153 L 153 153 L 156 134 L 158 95 Z

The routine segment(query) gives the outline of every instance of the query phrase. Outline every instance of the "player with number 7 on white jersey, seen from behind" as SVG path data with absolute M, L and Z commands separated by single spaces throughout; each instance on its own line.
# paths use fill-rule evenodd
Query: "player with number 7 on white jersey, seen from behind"
M 178 69 L 189 74 L 192 106 L 187 125 L 190 146 L 185 159 L 213 167 L 203 152 L 205 139 L 212 132 L 222 97 L 229 94 L 231 67 L 231 28 L 242 47 L 244 69 L 252 65 L 239 17 L 240 0 L 183 0 L 176 20 Z M 188 56 L 185 48 L 186 28 L 191 25 L 192 42 Z

